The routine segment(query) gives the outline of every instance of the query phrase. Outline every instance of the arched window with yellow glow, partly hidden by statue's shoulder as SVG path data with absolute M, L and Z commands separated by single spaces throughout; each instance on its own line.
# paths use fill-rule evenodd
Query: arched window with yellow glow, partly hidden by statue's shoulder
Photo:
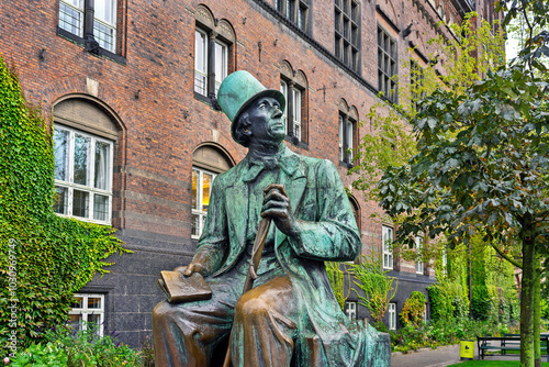
M 199 146 L 192 154 L 191 237 L 199 238 L 204 227 L 215 177 L 235 165 L 224 149 L 214 144 Z

